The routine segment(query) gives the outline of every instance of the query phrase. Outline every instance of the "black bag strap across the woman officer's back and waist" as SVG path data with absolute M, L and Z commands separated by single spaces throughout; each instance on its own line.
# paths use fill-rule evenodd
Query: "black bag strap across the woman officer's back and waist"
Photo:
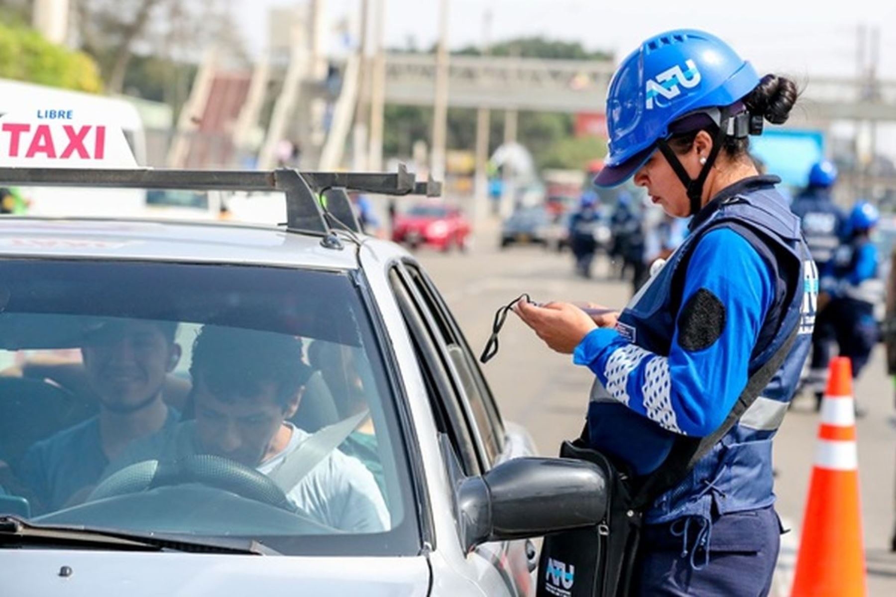
M 704 438 L 687 438 L 683 436 L 676 439 L 676 443 L 663 464 L 659 465 L 656 471 L 647 475 L 638 484 L 638 489 L 634 492 L 632 499 L 633 507 L 649 506 L 665 491 L 676 487 L 685 480 L 685 477 L 691 472 L 694 465 L 703 456 L 706 456 L 712 447 L 719 442 L 719 439 L 722 439 L 734 427 L 741 415 L 754 403 L 756 397 L 759 397 L 762 393 L 762 390 L 769 385 L 771 378 L 780 369 L 790 349 L 797 341 L 798 332 L 799 326 L 794 326 L 784 344 L 780 346 L 775 354 L 771 355 L 771 358 L 758 371 L 750 376 L 750 379 L 746 382 L 746 388 L 737 397 L 737 402 L 719 429 Z

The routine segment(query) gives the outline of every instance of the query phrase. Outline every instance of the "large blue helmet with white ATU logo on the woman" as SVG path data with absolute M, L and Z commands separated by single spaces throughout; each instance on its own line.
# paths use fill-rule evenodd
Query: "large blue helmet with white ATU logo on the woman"
M 647 39 L 610 81 L 609 154 L 594 183 L 624 183 L 668 137 L 669 124 L 702 108 L 731 106 L 758 84 L 753 66 L 714 35 L 682 29 Z

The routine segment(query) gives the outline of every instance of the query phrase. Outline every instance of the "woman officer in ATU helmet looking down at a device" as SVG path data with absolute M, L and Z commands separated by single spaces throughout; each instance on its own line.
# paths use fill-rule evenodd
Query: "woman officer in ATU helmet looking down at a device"
M 644 512 L 635 594 L 756 595 L 771 585 L 780 534 L 771 438 L 806 359 L 817 277 L 780 179 L 758 175 L 747 136 L 763 118 L 786 121 L 796 99 L 792 81 L 760 79 L 708 33 L 646 40 L 610 83 L 609 156 L 595 183 L 634 176 L 669 215 L 692 217 L 689 234 L 621 313 L 515 307 L 548 346 L 594 372 L 586 437 L 638 475 L 662 470 L 679 439 L 717 431 L 738 397 L 755 397 Z

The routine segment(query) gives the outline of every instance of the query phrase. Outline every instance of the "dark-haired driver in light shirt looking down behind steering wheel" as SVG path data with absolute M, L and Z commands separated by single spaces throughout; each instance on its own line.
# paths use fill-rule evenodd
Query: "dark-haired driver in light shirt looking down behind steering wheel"
M 208 454 L 271 475 L 312 437 L 289 422 L 311 374 L 296 337 L 206 325 L 194 342 L 190 374 L 194 420 L 135 443 L 108 474 L 146 460 Z M 289 501 L 343 532 L 388 529 L 388 510 L 366 467 L 335 448 L 318 457 L 284 489 Z

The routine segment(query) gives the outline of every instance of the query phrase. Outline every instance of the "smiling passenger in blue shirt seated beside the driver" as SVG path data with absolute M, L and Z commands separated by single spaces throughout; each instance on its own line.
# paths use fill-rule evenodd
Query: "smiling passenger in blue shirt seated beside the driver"
M 180 359 L 176 332 L 173 321 L 90 320 L 81 353 L 99 414 L 25 452 L 16 472 L 30 489 L 32 510 L 81 501 L 128 444 L 177 421 L 177 410 L 162 399 L 166 376 Z

